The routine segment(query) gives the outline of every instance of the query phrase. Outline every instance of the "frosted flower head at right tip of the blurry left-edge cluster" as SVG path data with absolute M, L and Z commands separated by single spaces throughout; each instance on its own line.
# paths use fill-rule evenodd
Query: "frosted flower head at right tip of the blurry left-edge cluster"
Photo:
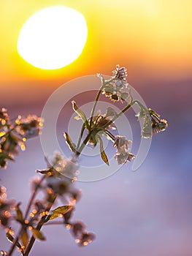
M 40 127 L 43 126 L 42 118 L 35 115 L 28 115 L 27 118 L 22 118 L 18 116 L 15 121 L 18 126 L 16 127 L 16 131 L 18 134 L 22 135 L 26 138 L 31 138 L 39 135 Z

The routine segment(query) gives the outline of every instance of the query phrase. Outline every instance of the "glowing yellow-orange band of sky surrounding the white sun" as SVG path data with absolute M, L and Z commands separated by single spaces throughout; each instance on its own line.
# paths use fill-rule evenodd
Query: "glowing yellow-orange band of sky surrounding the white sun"
M 102 72 L 110 75 L 115 64 L 141 70 L 151 78 L 179 79 L 191 76 L 192 2 L 188 0 L 99 0 L 65 1 L 66 7 L 84 15 L 88 41 L 80 57 L 58 70 L 42 70 L 27 64 L 17 52 L 18 34 L 23 23 L 38 10 L 61 5 L 59 0 L 9 0 L 0 2 L 1 83 L 9 89 L 35 89 L 51 86 L 51 80 L 64 83 L 80 75 Z M 38 86 L 34 82 L 38 81 Z M 28 85 L 29 86 L 29 85 Z M 2 93 L 6 89 L 1 89 Z M 16 90 L 16 89 L 15 89 Z

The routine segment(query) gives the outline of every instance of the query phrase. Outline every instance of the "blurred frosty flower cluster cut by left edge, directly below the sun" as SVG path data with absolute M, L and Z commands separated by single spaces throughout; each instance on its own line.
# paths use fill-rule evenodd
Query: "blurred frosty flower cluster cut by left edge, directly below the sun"
M 6 167 L 7 160 L 13 161 L 18 148 L 25 150 L 26 139 L 39 135 L 42 118 L 29 115 L 18 116 L 12 121 L 5 108 L 0 110 L 0 167 Z

